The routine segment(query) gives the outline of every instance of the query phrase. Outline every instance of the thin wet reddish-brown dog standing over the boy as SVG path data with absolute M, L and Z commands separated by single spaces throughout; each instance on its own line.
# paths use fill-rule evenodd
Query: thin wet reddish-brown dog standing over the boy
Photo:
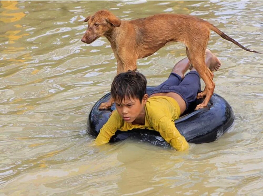
M 120 20 L 108 10 L 100 10 L 84 22 L 88 22 L 88 29 L 81 41 L 90 44 L 105 36 L 117 59 L 117 74 L 135 70 L 137 59 L 152 55 L 167 43 L 183 42 L 188 59 L 205 82 L 205 89 L 198 94 L 198 98 L 206 97 L 196 109 L 206 107 L 215 88 L 213 73 L 205 66 L 205 49 L 210 30 L 246 51 L 259 53 L 242 46 L 209 22 L 191 15 L 156 14 L 127 21 Z M 112 104 L 113 99 L 110 99 L 99 108 L 106 109 Z

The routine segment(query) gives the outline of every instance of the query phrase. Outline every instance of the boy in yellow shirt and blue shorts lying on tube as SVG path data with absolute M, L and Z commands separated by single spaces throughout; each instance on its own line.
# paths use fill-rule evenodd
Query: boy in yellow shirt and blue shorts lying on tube
M 206 50 L 206 65 L 217 71 L 221 65 L 218 58 Z M 186 74 L 190 62 L 187 58 L 174 66 L 169 78 L 148 96 L 146 78 L 139 72 L 128 71 L 117 75 L 111 86 L 116 109 L 100 130 L 95 143 L 108 143 L 117 130 L 134 128 L 155 130 L 178 151 L 189 145 L 174 125 L 174 120 L 195 101 L 200 91 L 200 76 L 194 68 Z

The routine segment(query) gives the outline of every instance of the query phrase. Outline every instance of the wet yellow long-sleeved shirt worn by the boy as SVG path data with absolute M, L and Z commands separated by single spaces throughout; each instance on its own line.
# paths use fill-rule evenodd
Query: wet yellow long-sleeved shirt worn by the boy
M 187 141 L 174 125 L 174 120 L 180 116 L 180 107 L 173 98 L 167 96 L 150 97 L 144 108 L 144 125 L 125 122 L 115 110 L 107 123 L 100 129 L 95 143 L 98 145 L 108 143 L 117 130 L 128 131 L 138 128 L 158 131 L 165 141 L 178 151 L 188 149 Z

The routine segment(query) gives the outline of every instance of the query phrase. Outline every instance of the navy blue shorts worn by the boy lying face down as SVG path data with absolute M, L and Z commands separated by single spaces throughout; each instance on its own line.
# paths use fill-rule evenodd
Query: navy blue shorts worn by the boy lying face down
M 171 73 L 168 79 L 156 87 L 151 94 L 170 92 L 179 94 L 184 99 L 187 109 L 196 101 L 197 93 L 201 92 L 199 74 L 196 71 L 190 71 L 182 79 L 176 73 Z

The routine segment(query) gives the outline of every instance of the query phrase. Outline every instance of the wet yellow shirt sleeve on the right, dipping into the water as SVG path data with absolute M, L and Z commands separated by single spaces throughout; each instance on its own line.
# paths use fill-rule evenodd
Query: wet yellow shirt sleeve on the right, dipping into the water
M 184 151 L 189 148 L 189 144 L 185 140 L 184 136 L 180 134 L 175 127 L 174 122 L 166 116 L 163 116 L 157 123 L 155 130 L 173 146 L 177 151 Z

